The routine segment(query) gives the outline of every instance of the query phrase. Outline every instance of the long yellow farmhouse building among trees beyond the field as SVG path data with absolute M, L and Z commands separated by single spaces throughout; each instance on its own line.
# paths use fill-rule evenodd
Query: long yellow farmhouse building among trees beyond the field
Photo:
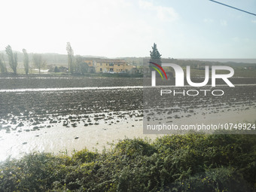
M 96 73 L 126 73 L 133 69 L 123 59 L 84 58 L 84 62 L 89 66 L 90 72 Z

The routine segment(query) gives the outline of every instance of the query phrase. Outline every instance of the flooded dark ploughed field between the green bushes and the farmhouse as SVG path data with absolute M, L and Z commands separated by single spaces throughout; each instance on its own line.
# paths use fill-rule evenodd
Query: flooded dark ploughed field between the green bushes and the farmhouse
M 108 147 L 143 134 L 142 78 L 1 78 L 0 160 L 31 151 Z M 170 121 L 256 120 L 255 79 L 234 79 L 221 97 L 170 97 Z M 172 87 L 173 88 L 173 87 Z M 219 88 L 219 87 L 218 87 Z M 150 91 L 157 89 L 146 88 Z M 157 95 L 157 94 L 155 94 Z M 160 105 L 157 98 L 151 107 Z M 147 109 L 147 108 L 145 108 Z M 145 111 L 147 114 L 147 111 Z M 147 114 L 157 120 L 157 109 Z

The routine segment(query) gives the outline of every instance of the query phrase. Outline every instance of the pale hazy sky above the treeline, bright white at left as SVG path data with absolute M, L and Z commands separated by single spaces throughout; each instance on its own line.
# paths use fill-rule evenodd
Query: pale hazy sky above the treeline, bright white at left
M 256 14 L 255 0 L 218 0 Z M 256 17 L 209 0 L 6 0 L 0 50 L 94 56 L 256 58 Z

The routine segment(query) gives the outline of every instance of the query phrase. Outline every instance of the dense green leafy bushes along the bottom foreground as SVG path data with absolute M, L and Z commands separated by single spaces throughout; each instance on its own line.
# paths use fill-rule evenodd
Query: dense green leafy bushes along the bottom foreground
M 0 165 L 0 191 L 255 191 L 256 136 L 124 139 L 110 151 L 28 154 Z

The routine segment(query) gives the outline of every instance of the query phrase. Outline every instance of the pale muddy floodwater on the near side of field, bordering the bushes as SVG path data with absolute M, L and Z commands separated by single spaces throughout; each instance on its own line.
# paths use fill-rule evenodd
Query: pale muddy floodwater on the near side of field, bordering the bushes
M 247 110 L 241 109 L 241 111 L 221 111 L 215 114 L 207 114 L 206 111 L 200 113 L 199 111 L 195 110 L 196 114 L 193 116 L 187 116 L 180 111 L 175 112 L 173 113 L 174 117 L 177 115 L 186 115 L 186 117 L 173 121 L 175 124 L 254 122 L 256 114 L 255 107 Z M 81 115 L 88 116 L 91 119 L 90 123 L 84 118 L 78 120 L 76 116 L 72 119 L 66 116 L 63 119 L 69 118 L 69 123 L 63 123 L 62 120 L 57 123 L 45 122 L 38 126 L 38 129 L 33 129 L 34 126 L 26 124 L 22 129 L 25 130 L 23 132 L 7 133 L 2 130 L 0 131 L 0 160 L 5 160 L 7 157 L 22 157 L 32 151 L 72 154 L 73 151 L 85 147 L 92 151 L 102 151 L 104 148 L 111 148 L 111 143 L 117 142 L 118 139 L 138 137 L 156 139 L 157 136 L 161 136 L 143 134 L 142 111 L 113 112 L 110 115 L 111 118 L 108 113 L 105 114 L 105 118 L 97 119 L 97 117 L 103 117 L 102 114 L 105 113 Z

